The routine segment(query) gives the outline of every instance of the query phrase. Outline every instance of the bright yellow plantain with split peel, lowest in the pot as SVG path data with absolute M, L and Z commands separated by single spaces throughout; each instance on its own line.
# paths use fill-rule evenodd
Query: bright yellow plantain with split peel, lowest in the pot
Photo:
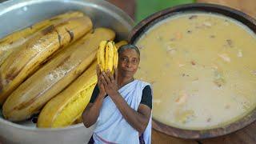
M 70 86 L 47 102 L 38 117 L 38 127 L 70 126 L 81 118 L 97 83 L 96 65 L 94 62 Z

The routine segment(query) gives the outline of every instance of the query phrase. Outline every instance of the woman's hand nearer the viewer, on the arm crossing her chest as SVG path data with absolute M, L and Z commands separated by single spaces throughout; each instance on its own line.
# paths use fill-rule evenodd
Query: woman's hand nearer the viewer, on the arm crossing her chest
M 107 70 L 106 73 L 102 72 L 101 82 L 106 90 L 106 94 L 110 96 L 118 94 L 118 70 L 114 68 L 114 76 Z

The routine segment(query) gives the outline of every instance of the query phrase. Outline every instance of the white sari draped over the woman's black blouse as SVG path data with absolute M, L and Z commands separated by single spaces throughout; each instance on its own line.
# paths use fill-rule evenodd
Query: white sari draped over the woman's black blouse
M 122 95 L 127 104 L 134 110 L 138 110 L 138 105 L 142 99 L 142 90 L 150 85 L 147 82 L 134 80 L 122 86 L 118 92 Z M 152 114 L 151 114 L 152 115 Z M 135 130 L 115 106 L 112 99 L 108 96 L 104 98 L 102 108 L 96 122 L 93 138 L 98 143 L 139 143 L 138 131 Z M 151 116 L 150 122 L 143 132 L 143 138 L 146 144 L 151 143 Z

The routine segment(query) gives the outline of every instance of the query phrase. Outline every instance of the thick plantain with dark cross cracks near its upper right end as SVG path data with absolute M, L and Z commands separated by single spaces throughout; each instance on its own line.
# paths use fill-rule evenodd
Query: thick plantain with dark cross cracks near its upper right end
M 70 18 L 47 27 L 14 50 L 0 66 L 0 105 L 46 58 L 91 29 L 89 17 Z

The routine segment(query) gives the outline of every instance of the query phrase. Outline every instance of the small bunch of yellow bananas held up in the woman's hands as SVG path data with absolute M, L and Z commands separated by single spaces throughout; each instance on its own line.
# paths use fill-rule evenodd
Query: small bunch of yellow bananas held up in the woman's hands
M 114 68 L 118 67 L 118 49 L 113 41 L 102 41 L 98 46 L 98 65 L 101 71 L 110 70 L 114 74 Z

